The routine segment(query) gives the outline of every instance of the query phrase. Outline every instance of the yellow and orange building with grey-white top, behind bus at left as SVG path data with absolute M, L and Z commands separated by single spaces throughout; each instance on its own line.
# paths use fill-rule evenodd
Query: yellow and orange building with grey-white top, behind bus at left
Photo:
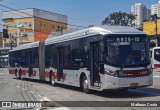
M 4 39 L 3 46 L 45 40 L 52 31 L 66 30 L 67 22 L 65 15 L 35 8 L 3 12 L 3 29 L 8 29 L 10 37 Z

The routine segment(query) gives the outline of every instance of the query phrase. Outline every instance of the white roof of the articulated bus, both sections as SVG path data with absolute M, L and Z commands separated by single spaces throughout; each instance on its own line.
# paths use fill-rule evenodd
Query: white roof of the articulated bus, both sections
M 78 38 L 83 38 L 91 35 L 106 35 L 106 34 L 145 34 L 144 32 L 141 32 L 135 28 L 132 27 L 126 27 L 126 26 L 103 26 L 103 27 L 89 27 L 86 29 L 82 29 L 76 32 L 72 32 L 69 34 L 61 35 L 58 37 L 52 37 L 50 39 L 47 39 L 45 41 L 45 45 L 57 43 L 57 42 L 63 42 L 63 41 L 68 41 L 68 40 L 73 40 L 73 39 L 78 39 Z M 22 49 L 28 49 L 32 47 L 38 47 L 39 46 L 39 41 L 34 42 L 34 43 L 28 43 L 28 44 L 23 44 L 19 47 L 16 47 L 11 51 L 16 51 L 16 50 L 22 50 Z

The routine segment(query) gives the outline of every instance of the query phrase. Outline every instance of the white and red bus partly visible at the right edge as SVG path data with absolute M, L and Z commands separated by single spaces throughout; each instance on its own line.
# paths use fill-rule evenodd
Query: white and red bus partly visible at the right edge
M 160 47 L 151 50 L 151 63 L 153 69 L 160 69 Z

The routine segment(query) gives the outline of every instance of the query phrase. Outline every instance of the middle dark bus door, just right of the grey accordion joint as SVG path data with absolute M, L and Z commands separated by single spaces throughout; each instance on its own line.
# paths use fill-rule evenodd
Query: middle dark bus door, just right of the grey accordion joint
M 58 56 L 58 68 L 57 68 L 57 75 L 58 75 L 58 81 L 62 78 L 63 75 L 63 48 L 58 48 L 57 52 Z

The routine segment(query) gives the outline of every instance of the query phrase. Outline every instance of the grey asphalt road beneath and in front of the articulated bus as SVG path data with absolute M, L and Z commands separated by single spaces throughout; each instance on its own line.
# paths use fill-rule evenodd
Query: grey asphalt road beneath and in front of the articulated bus
M 150 87 L 142 87 L 135 90 L 128 90 L 127 92 L 118 91 L 93 91 L 92 94 L 85 94 L 80 88 L 58 85 L 53 87 L 47 82 L 39 82 L 35 80 L 16 79 L 14 76 L 8 74 L 8 69 L 0 69 L 0 101 L 54 101 L 49 103 L 49 109 L 75 109 L 75 110 L 160 110 L 158 107 L 60 107 L 61 104 L 69 103 L 70 105 L 77 103 L 84 103 L 87 105 L 89 101 L 90 106 L 96 105 L 96 101 L 160 101 L 160 71 L 156 70 L 153 73 L 154 84 Z M 56 102 L 64 101 L 64 102 Z M 73 101 L 73 102 L 68 102 Z M 75 101 L 79 101 L 75 103 Z M 104 102 L 103 102 L 104 103 Z M 75 105 L 76 106 L 76 105 Z M 0 108 L 6 109 L 6 108 Z M 39 109 L 34 108 L 34 109 Z

